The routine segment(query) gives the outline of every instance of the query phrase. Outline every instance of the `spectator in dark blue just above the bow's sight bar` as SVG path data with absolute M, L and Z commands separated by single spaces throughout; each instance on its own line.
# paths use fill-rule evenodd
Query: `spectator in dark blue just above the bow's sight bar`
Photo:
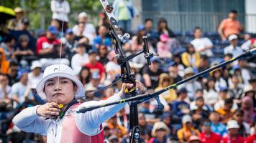
M 144 26 L 148 40 L 154 48 L 157 47 L 159 35 L 157 34 L 157 31 L 155 31 L 155 29 L 153 28 L 153 19 L 145 19 Z

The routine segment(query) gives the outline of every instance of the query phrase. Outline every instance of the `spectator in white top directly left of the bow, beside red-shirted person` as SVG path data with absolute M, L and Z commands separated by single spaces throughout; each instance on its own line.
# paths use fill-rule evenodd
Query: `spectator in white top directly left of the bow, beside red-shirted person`
M 114 58 L 116 55 L 115 51 L 109 52 L 109 62 L 106 64 L 106 80 L 113 82 L 117 75 L 121 74 L 120 66 L 117 64 L 117 59 Z

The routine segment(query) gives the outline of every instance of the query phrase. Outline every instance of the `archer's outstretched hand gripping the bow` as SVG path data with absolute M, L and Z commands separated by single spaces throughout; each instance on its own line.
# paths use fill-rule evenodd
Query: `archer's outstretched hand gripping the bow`
M 128 89 L 128 90 L 129 90 L 129 89 L 132 89 L 132 87 L 134 87 L 133 84 L 124 83 L 124 84 L 122 85 L 122 90 L 119 92 L 119 96 L 120 96 L 122 99 L 125 99 L 126 97 L 125 97 L 125 92 L 124 92 L 124 90 L 125 90 L 125 89 Z M 146 88 L 141 82 L 139 82 L 139 81 L 136 80 L 136 92 L 142 94 L 142 93 L 144 93 L 144 92 L 146 92 L 146 91 L 147 91 L 147 88 Z

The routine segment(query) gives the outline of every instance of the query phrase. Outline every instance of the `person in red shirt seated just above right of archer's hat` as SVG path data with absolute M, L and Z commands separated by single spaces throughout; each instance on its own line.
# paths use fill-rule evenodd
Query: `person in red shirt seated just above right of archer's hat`
M 88 66 L 90 72 L 99 72 L 100 74 L 100 83 L 103 84 L 106 79 L 106 72 L 104 66 L 97 60 L 97 53 L 96 51 L 89 50 L 89 61 L 85 66 Z

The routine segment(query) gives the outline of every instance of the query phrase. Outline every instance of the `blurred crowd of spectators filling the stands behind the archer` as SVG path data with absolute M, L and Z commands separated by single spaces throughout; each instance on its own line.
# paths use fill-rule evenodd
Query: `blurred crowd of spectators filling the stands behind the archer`
M 145 19 L 132 30 L 132 18 L 137 16 L 134 6 L 124 0 L 114 1 L 113 6 L 122 31 L 132 36 L 122 45 L 126 54 L 142 49 L 145 35 L 150 52 L 159 54 L 151 59 L 150 67 L 144 55 L 129 61 L 136 79 L 145 84 L 149 93 L 256 46 L 254 34 L 243 32 L 235 10 L 221 21 L 218 33 L 196 27 L 183 35 L 169 29 L 164 18 Z M 26 107 L 45 103 L 35 87 L 46 66 L 61 63 L 73 68 L 86 89 L 86 98 L 79 102 L 107 99 L 122 88 L 118 82 L 93 93 L 116 82 L 121 74 L 106 14 L 99 13 L 99 22 L 93 25 L 88 14 L 81 12 L 76 26 L 69 27 L 68 1 L 52 0 L 51 10 L 52 21 L 46 31 L 31 34 L 29 19 L 21 8 L 14 9 L 16 18 L 1 31 L 1 142 L 45 142 L 45 137 L 15 127 L 12 117 Z M 234 61 L 160 94 L 164 109 L 157 109 L 155 99 L 139 104 L 141 142 L 256 142 L 255 60 L 252 56 Z M 103 127 L 107 141 L 128 142 L 129 106 L 104 122 Z

